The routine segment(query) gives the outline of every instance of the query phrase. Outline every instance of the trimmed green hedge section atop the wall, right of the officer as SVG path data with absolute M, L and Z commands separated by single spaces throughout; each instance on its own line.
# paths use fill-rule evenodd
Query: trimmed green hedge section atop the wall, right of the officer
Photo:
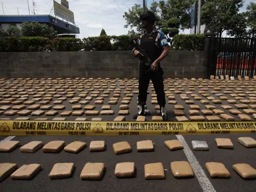
M 175 35 L 173 46 L 176 50 L 203 51 L 205 49 L 205 35 Z

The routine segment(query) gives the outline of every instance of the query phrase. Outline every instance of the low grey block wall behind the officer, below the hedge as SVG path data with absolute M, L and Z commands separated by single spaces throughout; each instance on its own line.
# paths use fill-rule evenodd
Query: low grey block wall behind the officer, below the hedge
M 170 51 L 162 61 L 164 78 L 207 77 L 205 51 Z M 130 51 L 0 53 L 1 78 L 138 78 Z

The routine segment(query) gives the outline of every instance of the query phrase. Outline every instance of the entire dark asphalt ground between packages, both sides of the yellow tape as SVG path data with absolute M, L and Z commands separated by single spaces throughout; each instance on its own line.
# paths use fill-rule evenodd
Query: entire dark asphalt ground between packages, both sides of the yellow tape
M 11 80 L 13 81 L 13 80 Z M 42 80 L 43 82 L 45 80 Z M 170 81 L 165 84 L 166 91 L 169 91 L 172 88 L 175 88 L 176 90 L 183 88 L 182 94 L 186 93 L 188 91 L 188 81 L 178 83 L 178 85 L 174 85 L 173 82 Z M 83 83 L 84 81 L 82 81 Z M 206 83 L 207 81 L 205 81 Z M 79 83 L 79 82 L 78 82 Z M 73 85 L 77 85 L 78 83 L 74 83 Z M 80 82 L 81 83 L 81 82 Z M 85 86 L 86 83 L 84 82 Z M 89 82 L 90 83 L 90 82 Z M 127 85 L 126 81 L 126 85 Z M 186 83 L 186 85 L 182 85 L 182 83 Z M 199 96 L 202 88 L 206 88 L 207 85 L 203 85 L 203 87 L 198 87 L 201 85 L 201 82 L 191 82 L 195 85 L 195 91 L 192 91 L 194 94 L 197 94 Z M 237 88 L 242 86 L 243 93 L 245 93 L 245 96 L 243 96 L 243 99 L 249 99 L 249 94 L 254 94 L 255 92 L 255 81 L 234 81 Z M 9 89 L 20 89 L 21 87 L 13 88 L 13 86 L 17 85 L 17 83 L 13 83 L 13 85 L 9 86 L 10 84 L 6 84 L 6 82 L 2 82 L 1 89 L 7 89 L 7 92 Z M 49 84 L 47 84 L 49 85 Z M 71 86 L 67 82 L 66 85 Z M 108 88 L 112 83 L 108 82 Z M 135 83 L 132 83 L 134 86 Z M 173 87 L 168 87 L 168 85 L 172 85 Z M 223 93 L 226 97 L 229 99 L 234 99 L 231 97 L 231 95 L 224 93 L 224 91 L 227 91 L 225 89 L 229 88 L 230 85 L 228 83 L 222 82 L 222 81 L 215 81 L 214 87 L 220 87 L 221 85 L 225 85 L 225 88 L 221 88 L 219 93 Z M 9 86 L 9 87 L 8 87 Z M 38 84 L 33 85 L 33 89 L 37 88 Z M 46 85 L 43 85 L 45 87 Z M 51 88 L 57 86 L 57 84 L 54 84 Z M 182 87 L 178 87 L 182 86 Z M 42 87 L 42 88 L 43 88 Z M 119 84 L 117 83 L 116 88 L 119 87 Z M 27 88 L 31 89 L 31 88 Z M 68 88 L 67 88 L 68 89 Z M 232 92 L 235 93 L 237 89 L 232 88 Z M 250 90 L 249 90 L 250 89 Z M 111 105 L 112 110 L 114 110 L 114 115 L 104 115 L 100 116 L 102 117 L 103 121 L 112 121 L 116 116 L 118 116 L 119 106 L 121 104 L 122 98 L 126 97 L 126 94 L 124 94 L 124 90 L 122 89 L 120 98 L 118 99 L 117 105 Z M 137 89 L 134 88 L 132 91 L 136 91 Z M 153 91 L 149 88 L 150 94 L 153 93 Z M 81 91 L 78 91 L 77 89 L 74 89 L 76 94 L 74 97 L 78 97 Z M 94 89 L 94 91 L 97 91 L 97 89 Z M 105 89 L 104 91 L 107 91 Z M 218 99 L 217 95 L 214 95 L 211 93 L 213 91 L 213 87 L 209 88 L 209 90 L 205 91 L 205 93 L 208 93 L 209 95 L 215 97 Z M 251 93 L 248 93 L 247 91 L 251 91 Z M 37 91 L 39 92 L 39 91 Z M 174 94 L 174 91 L 171 91 Z M 247 93 L 246 93 L 247 92 Z M 45 94 L 48 94 L 49 91 L 46 90 Z M 103 91 L 100 92 L 100 95 L 102 95 Z M 19 94 L 19 93 L 17 93 Z M 113 96 L 114 93 L 110 93 L 110 96 L 108 98 L 104 99 L 104 103 L 102 105 L 108 105 L 108 99 Z M 1 100 L 5 100 L 4 94 L 0 94 Z M 89 94 L 90 95 L 90 92 Z M 99 96 L 100 96 L 99 95 Z M 177 105 L 183 105 L 184 106 L 184 113 L 186 117 L 189 117 L 189 105 L 185 103 L 184 100 L 180 98 L 180 95 L 174 94 L 175 100 L 177 101 Z M 201 110 L 205 109 L 205 105 L 201 104 L 200 101 L 196 101 L 191 97 L 190 94 L 187 94 L 190 100 L 195 101 L 194 105 L 199 105 Z M 44 97 L 44 96 L 43 96 Z M 132 115 L 134 115 L 137 111 L 136 109 L 136 97 L 137 95 L 134 94 L 132 97 L 132 101 L 129 104 L 129 115 L 126 115 L 126 121 L 132 121 Z M 201 96 L 203 97 L 203 96 Z M 253 96 L 254 97 L 254 96 Z M 29 95 L 29 100 L 33 99 L 32 95 Z M 203 97 L 203 99 L 206 99 L 206 97 Z M 55 101 L 56 98 L 53 97 L 53 100 L 48 105 L 54 105 L 53 101 Z M 63 101 L 60 105 L 65 105 L 66 109 L 59 111 L 58 115 L 55 117 L 61 117 L 60 113 L 62 111 L 69 111 L 72 110 L 72 104 L 70 104 L 68 101 L 70 98 L 68 98 L 67 101 Z M 84 100 L 82 98 L 81 100 Z M 95 105 L 94 101 L 96 101 L 96 98 L 92 99 L 88 105 Z M 168 98 L 166 97 L 166 102 L 168 102 Z M 241 101 L 237 100 L 237 103 L 241 103 Z M 37 104 L 37 103 L 35 103 Z M 148 95 L 148 108 L 152 112 L 152 115 L 156 115 L 156 111 L 154 110 L 154 107 L 156 105 L 151 104 L 151 96 Z M 251 105 L 253 103 L 250 103 L 248 105 Z M 77 105 L 77 104 L 73 104 Z M 96 105 L 96 109 L 94 110 L 101 110 L 102 105 Z M 209 101 L 209 105 L 215 105 L 211 101 Z M 221 105 L 231 105 L 233 109 L 236 109 L 233 104 L 228 104 L 227 101 L 223 100 L 223 103 Z M 221 105 L 215 105 L 217 109 L 222 109 Z M 13 104 L 10 104 L 9 106 L 13 107 Z M 26 105 L 27 106 L 27 105 Z M 82 105 L 84 107 L 85 105 Z M 176 121 L 174 114 L 174 105 L 166 105 L 166 112 L 168 114 L 170 121 Z M 226 114 L 231 115 L 229 113 L 229 110 L 222 109 L 225 111 Z M 239 109 L 243 113 L 242 109 Z M 150 121 L 152 118 L 152 115 L 148 115 L 146 117 L 147 121 Z M 200 115 L 203 115 L 200 113 Z M 205 115 L 203 115 L 205 116 Z M 239 118 L 237 115 L 232 115 L 235 117 L 236 121 L 239 121 Z M 253 120 L 253 115 L 249 115 Z M 6 118 L 7 116 L 1 115 L 1 118 Z M 17 117 L 21 117 L 19 115 L 15 115 L 13 117 L 8 117 L 10 119 L 15 119 Z M 35 119 L 38 117 L 32 117 L 28 115 L 27 117 L 30 117 L 31 119 Z M 45 117 L 44 115 L 40 117 Z M 98 116 L 86 116 L 83 115 L 82 117 L 88 118 L 90 121 L 93 117 Z M 53 117 L 48 117 L 49 120 L 53 119 Z M 75 116 L 69 116 L 66 117 L 66 120 L 74 120 L 77 117 Z M 223 119 L 221 119 L 223 120 Z M 191 141 L 192 140 L 203 140 L 207 141 L 209 145 L 209 151 L 193 151 L 193 155 L 195 155 L 195 158 L 199 162 L 200 167 L 196 167 L 195 169 L 202 169 L 205 173 L 204 179 L 209 179 L 211 184 L 213 185 L 213 188 L 216 191 L 255 191 L 256 186 L 256 180 L 251 181 L 245 181 L 241 179 L 235 171 L 232 169 L 232 165 L 235 163 L 249 163 L 252 167 L 256 168 L 255 163 L 255 155 L 256 155 L 256 149 L 247 149 L 240 145 L 237 142 L 238 137 L 244 136 L 244 134 L 238 134 L 238 135 L 185 135 L 184 139 L 186 143 L 188 143 L 189 149 L 192 149 Z M 246 135 L 249 137 L 253 137 L 256 139 L 255 135 Z M 215 144 L 215 138 L 217 137 L 227 137 L 230 138 L 231 141 L 233 141 L 234 149 L 218 149 Z M 0 136 L 0 141 L 5 139 L 5 137 Z M 147 153 L 138 153 L 136 151 L 136 141 L 142 141 L 145 139 L 151 139 L 154 142 L 155 151 L 154 152 L 147 152 Z M 20 191 L 20 192 L 27 192 L 27 191 L 203 191 L 201 185 L 199 184 L 199 178 L 194 177 L 192 179 L 175 179 L 172 176 L 172 173 L 170 171 L 170 163 L 172 161 L 188 161 L 185 151 L 169 151 L 165 145 L 164 141 L 169 139 L 176 139 L 176 136 L 132 136 L 132 137 L 15 137 L 13 140 L 20 141 L 21 145 L 25 145 L 29 141 L 43 141 L 44 144 L 46 144 L 49 141 L 53 140 L 63 140 L 66 142 L 66 145 L 68 143 L 71 143 L 72 141 L 85 141 L 88 145 L 90 144 L 90 141 L 94 140 L 104 140 L 106 141 L 107 150 L 100 153 L 90 153 L 88 147 L 81 151 L 78 154 L 72 154 L 72 153 L 66 153 L 65 151 L 61 151 L 61 153 L 57 154 L 49 154 L 49 153 L 43 153 L 42 150 L 37 151 L 37 153 L 34 154 L 28 154 L 28 153 L 20 153 L 19 149 L 16 149 L 15 151 L 11 153 L 0 153 L 0 163 L 17 163 L 19 167 L 24 164 L 29 163 L 41 163 L 43 170 L 36 175 L 31 181 L 14 181 L 10 178 L 6 179 L 5 181 L 0 183 L 0 191 L 1 192 L 14 192 L 14 191 Z M 118 141 L 128 141 L 130 145 L 132 145 L 132 153 L 127 153 L 124 155 L 115 155 L 114 151 L 112 149 L 112 144 L 116 143 Z M 124 161 L 132 161 L 136 165 L 136 177 L 132 179 L 118 179 L 114 176 L 114 169 L 116 166 L 116 163 L 124 162 Z M 231 173 L 231 179 L 211 179 L 209 177 L 209 174 L 207 173 L 207 170 L 205 169 L 205 163 L 209 161 L 216 161 L 220 163 L 224 163 L 224 165 L 227 167 L 229 172 Z M 74 174 L 72 178 L 70 179 L 59 179 L 59 180 L 50 180 L 48 175 L 51 171 L 51 168 L 55 163 L 69 163 L 72 162 L 76 166 L 76 170 L 74 171 Z M 84 165 L 88 162 L 102 162 L 105 163 L 106 166 L 106 172 L 104 174 L 104 177 L 102 181 L 82 181 L 80 179 L 80 173 L 82 171 L 82 168 Z M 146 181 L 144 179 L 144 164 L 146 163 L 157 163 L 162 162 L 165 169 L 165 175 L 166 179 L 163 180 L 150 180 Z M 194 170 L 197 171 L 197 170 Z M 208 191 L 207 191 L 208 192 Z

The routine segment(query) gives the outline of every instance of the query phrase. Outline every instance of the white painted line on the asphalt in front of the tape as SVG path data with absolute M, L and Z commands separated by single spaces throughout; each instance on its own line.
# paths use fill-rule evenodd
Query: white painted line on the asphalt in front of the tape
M 202 187 L 204 192 L 216 192 L 215 188 L 213 187 L 213 184 L 208 179 L 207 175 L 205 174 L 205 171 L 202 169 L 199 161 L 197 161 L 197 158 L 195 157 L 194 153 L 191 151 L 191 149 L 188 146 L 188 143 L 186 143 L 184 137 L 182 135 L 176 135 L 178 141 L 182 143 L 184 146 L 184 153 L 186 155 L 186 158 L 188 159 L 188 162 L 190 163 L 197 180 L 199 181 L 199 185 Z

